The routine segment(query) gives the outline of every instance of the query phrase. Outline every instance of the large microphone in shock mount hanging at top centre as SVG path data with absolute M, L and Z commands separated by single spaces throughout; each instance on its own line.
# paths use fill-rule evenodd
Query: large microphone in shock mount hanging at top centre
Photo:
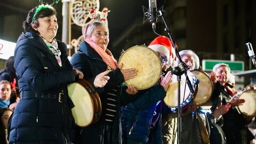
M 148 20 L 151 23 L 153 30 L 155 31 L 156 22 L 159 16 L 159 13 L 157 12 L 156 0 L 148 0 L 148 6 L 149 6 L 148 9 L 145 6 L 142 6 L 143 12 L 144 12 L 143 23 L 146 20 Z M 145 16 L 146 16 L 146 19 L 145 19 Z

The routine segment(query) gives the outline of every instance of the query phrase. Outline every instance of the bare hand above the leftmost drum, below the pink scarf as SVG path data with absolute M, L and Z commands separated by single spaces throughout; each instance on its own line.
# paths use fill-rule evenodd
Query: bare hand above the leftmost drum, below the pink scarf
M 106 76 L 109 70 L 106 70 L 99 75 L 97 75 L 93 81 L 95 87 L 104 87 L 108 83 L 109 76 Z

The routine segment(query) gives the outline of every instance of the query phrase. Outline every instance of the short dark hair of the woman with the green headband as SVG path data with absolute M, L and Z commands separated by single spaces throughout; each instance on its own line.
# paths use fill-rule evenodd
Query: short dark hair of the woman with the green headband
M 34 7 L 32 10 L 30 10 L 28 12 L 27 18 L 25 21 L 23 21 L 22 27 L 25 31 L 34 32 L 34 33 L 39 34 L 39 32 L 36 31 L 31 26 L 31 23 L 33 22 L 35 24 L 35 28 L 38 28 L 39 27 L 38 18 L 50 17 L 52 15 L 56 15 L 56 17 L 57 17 L 57 11 L 55 9 L 45 8 L 35 14 L 37 7 Z M 34 17 L 34 14 L 35 14 L 35 17 Z M 33 17 L 34 17 L 34 21 L 32 21 Z

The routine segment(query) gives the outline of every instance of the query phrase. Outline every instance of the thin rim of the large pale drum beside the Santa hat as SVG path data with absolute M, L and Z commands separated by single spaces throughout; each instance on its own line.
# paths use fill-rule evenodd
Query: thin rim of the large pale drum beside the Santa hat
M 154 50 L 151 50 L 151 49 L 150 49 L 149 47 L 147 47 L 147 46 L 144 46 L 144 45 L 135 45 L 135 46 L 133 46 L 133 47 L 130 47 L 129 49 L 127 49 L 126 51 L 124 51 L 124 52 L 121 54 L 121 56 L 119 57 L 118 66 L 121 65 L 121 59 L 122 59 L 123 55 L 124 55 L 125 53 L 127 53 L 128 51 L 132 50 L 134 47 L 143 47 L 143 48 L 145 48 L 145 49 L 147 49 L 147 50 L 150 50 L 150 51 L 152 51 L 152 52 L 154 52 L 154 53 L 156 54 L 156 52 L 155 52 Z M 157 54 L 156 54 L 156 55 L 157 55 Z M 162 74 L 162 62 L 161 62 L 161 59 L 160 59 L 160 58 L 159 58 L 159 63 L 161 63 L 161 65 L 160 65 L 161 68 L 159 68 L 159 77 L 156 79 L 156 81 L 154 81 L 154 83 L 152 83 L 151 85 L 149 85 L 149 86 L 147 86 L 147 87 L 144 87 L 144 88 L 136 87 L 137 90 L 145 90 L 145 89 L 148 89 L 149 87 L 155 85 L 155 84 L 158 82 L 158 80 L 159 80 L 159 78 L 161 77 L 161 74 Z M 127 84 L 126 82 L 124 82 L 124 84 L 125 84 L 126 86 L 129 85 L 129 84 Z

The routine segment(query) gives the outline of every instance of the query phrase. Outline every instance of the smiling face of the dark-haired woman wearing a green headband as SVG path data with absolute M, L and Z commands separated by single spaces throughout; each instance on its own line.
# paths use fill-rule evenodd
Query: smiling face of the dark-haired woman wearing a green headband
M 52 42 L 52 39 L 57 35 L 58 23 L 56 15 L 50 17 L 38 18 L 39 26 L 35 28 L 35 24 L 31 23 L 32 27 L 39 32 L 39 35 Z

